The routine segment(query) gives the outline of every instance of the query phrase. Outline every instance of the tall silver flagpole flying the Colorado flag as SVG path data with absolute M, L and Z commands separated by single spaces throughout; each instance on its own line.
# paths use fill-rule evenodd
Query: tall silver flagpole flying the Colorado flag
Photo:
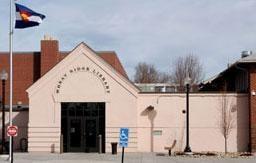
M 12 95 L 13 95 L 13 0 L 10 0 L 10 32 L 9 32 L 9 51 L 10 51 L 10 108 L 9 108 L 9 122 L 12 126 Z M 12 161 L 12 137 L 9 139 L 9 161 Z

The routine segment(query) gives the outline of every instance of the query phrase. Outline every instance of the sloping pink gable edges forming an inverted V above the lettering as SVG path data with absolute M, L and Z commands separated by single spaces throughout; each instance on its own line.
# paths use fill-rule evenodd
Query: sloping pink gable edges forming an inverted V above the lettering
M 37 91 L 40 90 L 47 81 L 52 79 L 57 73 L 58 70 L 63 67 L 63 65 L 67 65 L 72 62 L 74 59 L 78 57 L 78 55 L 84 54 L 86 55 L 94 64 L 99 66 L 103 71 L 105 71 L 112 79 L 114 79 L 118 84 L 120 84 L 123 88 L 129 91 L 134 96 L 137 96 L 139 89 L 131 83 L 128 79 L 126 79 L 123 75 L 118 73 L 111 65 L 109 65 L 104 59 L 97 55 L 97 53 L 91 49 L 85 43 L 80 43 L 77 47 L 75 47 L 67 57 L 61 60 L 57 65 L 55 65 L 50 71 L 48 71 L 45 75 L 43 75 L 38 81 L 36 81 L 33 85 L 31 85 L 26 91 L 29 93 L 29 96 L 33 95 Z

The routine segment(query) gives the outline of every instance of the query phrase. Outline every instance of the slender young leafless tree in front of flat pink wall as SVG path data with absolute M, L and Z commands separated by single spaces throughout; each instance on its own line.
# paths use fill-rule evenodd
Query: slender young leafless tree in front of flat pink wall
M 228 152 L 228 137 L 234 128 L 234 113 L 236 107 L 229 102 L 229 99 L 225 93 L 222 94 L 220 99 L 220 120 L 219 127 L 221 134 L 225 141 L 225 153 Z

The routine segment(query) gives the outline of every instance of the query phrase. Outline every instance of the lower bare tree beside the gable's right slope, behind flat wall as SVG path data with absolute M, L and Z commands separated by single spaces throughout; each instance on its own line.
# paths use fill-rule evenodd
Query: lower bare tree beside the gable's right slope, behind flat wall
M 159 72 L 154 65 L 140 62 L 135 67 L 135 83 L 165 83 L 170 80 L 166 73 Z

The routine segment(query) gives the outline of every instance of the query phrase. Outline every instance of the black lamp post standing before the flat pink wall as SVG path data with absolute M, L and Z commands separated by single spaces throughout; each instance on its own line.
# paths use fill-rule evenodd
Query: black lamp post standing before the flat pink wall
M 186 117 L 187 117 L 187 125 L 186 125 L 186 129 L 187 129 L 187 137 L 186 137 L 186 147 L 184 149 L 184 152 L 186 154 L 190 154 L 191 148 L 189 146 L 189 88 L 190 88 L 190 83 L 191 83 L 191 78 L 188 76 L 185 79 L 185 85 L 186 85 Z

